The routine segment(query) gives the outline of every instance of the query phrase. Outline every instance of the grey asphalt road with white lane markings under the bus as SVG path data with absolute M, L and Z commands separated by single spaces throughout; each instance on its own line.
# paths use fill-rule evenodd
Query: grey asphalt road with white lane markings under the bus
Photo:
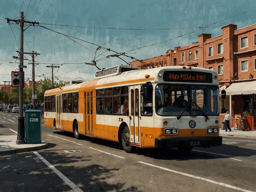
M 0 134 L 14 135 L 17 117 L 0 112 Z M 223 137 L 222 146 L 187 154 L 126 153 L 117 143 L 78 140 L 42 124 L 42 140 L 48 148 L 0 156 L 0 191 L 256 191 L 256 139 Z

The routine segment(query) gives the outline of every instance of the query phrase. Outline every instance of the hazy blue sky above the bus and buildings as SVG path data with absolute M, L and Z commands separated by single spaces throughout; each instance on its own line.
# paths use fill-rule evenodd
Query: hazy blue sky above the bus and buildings
M 136 59 L 164 55 L 165 50 L 190 45 L 201 33 L 222 34 L 229 23 L 238 29 L 256 23 L 255 0 L 5 0 L 0 6 L 0 84 L 18 69 L 19 25 L 5 18 L 39 26 L 24 27 L 24 52 L 35 57 L 35 79 L 91 80 L 98 69 Z M 101 47 L 97 50 L 98 47 Z M 110 48 L 110 50 L 107 50 Z M 96 51 L 97 50 L 97 51 Z M 126 56 L 107 57 L 115 53 Z M 25 78 L 32 80 L 32 57 L 24 55 Z

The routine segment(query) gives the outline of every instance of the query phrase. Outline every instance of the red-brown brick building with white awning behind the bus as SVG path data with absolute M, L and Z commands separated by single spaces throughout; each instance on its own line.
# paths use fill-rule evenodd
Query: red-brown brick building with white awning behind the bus
M 249 112 L 256 121 L 256 24 L 241 29 L 225 25 L 217 37 L 199 34 L 198 42 L 130 64 L 141 69 L 180 65 L 214 70 L 219 75 L 220 108 L 225 107 L 233 117 Z M 226 98 L 221 97 L 224 91 Z

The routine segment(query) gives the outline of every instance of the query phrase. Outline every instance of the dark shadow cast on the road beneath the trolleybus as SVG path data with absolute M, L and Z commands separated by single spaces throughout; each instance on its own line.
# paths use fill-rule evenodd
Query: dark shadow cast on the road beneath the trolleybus
M 56 135 L 63 135 L 66 137 L 74 138 L 73 133 L 65 131 L 54 131 Z M 123 151 L 122 146 L 117 142 L 107 141 L 104 139 L 98 139 L 93 137 L 87 137 L 81 135 L 81 138 L 77 141 L 91 142 L 100 146 L 105 146 L 117 150 Z M 139 148 L 133 147 L 130 153 L 137 155 L 144 155 L 146 157 L 160 159 L 160 160 L 197 160 L 197 159 L 219 159 L 219 158 L 231 158 L 237 156 L 252 156 L 256 154 L 256 150 L 246 149 L 235 145 L 215 146 L 211 148 L 194 147 L 190 152 L 179 151 L 178 148 Z

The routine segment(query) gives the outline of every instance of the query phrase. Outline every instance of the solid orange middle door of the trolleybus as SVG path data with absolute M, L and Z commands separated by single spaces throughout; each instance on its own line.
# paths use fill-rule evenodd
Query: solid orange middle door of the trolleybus
M 85 95 L 86 109 L 86 134 L 93 135 L 93 116 L 92 116 L 92 91 L 87 91 Z

